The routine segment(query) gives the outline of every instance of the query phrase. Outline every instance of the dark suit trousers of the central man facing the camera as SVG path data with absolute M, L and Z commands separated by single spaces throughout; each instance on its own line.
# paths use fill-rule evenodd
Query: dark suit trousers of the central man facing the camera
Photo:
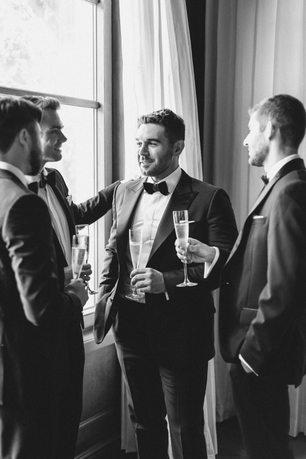
M 134 320 L 125 321 L 129 313 Z M 144 305 L 122 300 L 118 315 L 125 336 L 115 334 L 117 355 L 139 459 L 168 459 L 166 415 L 173 458 L 207 459 L 203 405 L 208 362 L 189 369 L 164 368 L 150 345 Z

